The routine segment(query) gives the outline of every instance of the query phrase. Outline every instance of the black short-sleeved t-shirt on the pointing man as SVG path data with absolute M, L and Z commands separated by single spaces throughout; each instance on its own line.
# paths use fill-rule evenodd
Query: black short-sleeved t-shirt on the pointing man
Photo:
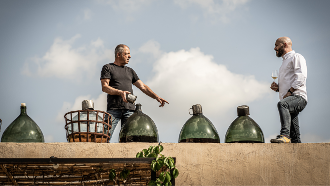
M 100 79 L 110 79 L 109 86 L 118 90 L 129 91 L 133 94 L 132 84 L 138 81 L 139 77 L 129 67 L 121 67 L 114 63 L 109 63 L 103 66 Z M 125 103 L 121 96 L 108 94 L 107 101 L 107 110 L 135 110 L 135 106 L 132 103 Z

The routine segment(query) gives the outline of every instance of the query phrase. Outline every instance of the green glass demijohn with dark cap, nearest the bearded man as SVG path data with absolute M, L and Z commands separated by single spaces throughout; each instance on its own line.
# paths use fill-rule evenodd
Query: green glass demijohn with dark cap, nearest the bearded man
M 264 143 L 265 139 L 259 125 L 248 115 L 249 106 L 237 107 L 238 117 L 229 126 L 225 143 Z

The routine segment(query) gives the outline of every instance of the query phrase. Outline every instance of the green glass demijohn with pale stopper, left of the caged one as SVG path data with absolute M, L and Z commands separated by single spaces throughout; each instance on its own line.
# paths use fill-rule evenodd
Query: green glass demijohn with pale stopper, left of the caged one
M 21 114 L 4 131 L 1 142 L 45 142 L 44 134 L 27 114 L 25 103 L 21 104 Z

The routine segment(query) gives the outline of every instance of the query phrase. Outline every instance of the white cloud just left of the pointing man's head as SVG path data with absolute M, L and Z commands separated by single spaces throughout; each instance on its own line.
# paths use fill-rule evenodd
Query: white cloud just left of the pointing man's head
M 60 79 L 80 80 L 91 77 L 97 70 L 97 63 L 114 58 L 112 51 L 105 49 L 103 41 L 98 38 L 87 46 L 74 48 L 73 44 L 81 36 L 77 34 L 70 40 L 56 38 L 51 48 L 43 57 L 26 63 L 22 73 L 28 76 L 57 77 Z M 31 66 L 35 68 L 31 68 Z

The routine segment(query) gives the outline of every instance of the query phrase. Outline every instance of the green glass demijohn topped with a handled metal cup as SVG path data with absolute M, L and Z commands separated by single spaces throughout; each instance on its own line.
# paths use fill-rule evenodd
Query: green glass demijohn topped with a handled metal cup
M 202 106 L 193 105 L 190 109 L 192 109 L 193 116 L 183 125 L 179 143 L 220 143 L 219 134 L 212 122 L 203 115 Z

